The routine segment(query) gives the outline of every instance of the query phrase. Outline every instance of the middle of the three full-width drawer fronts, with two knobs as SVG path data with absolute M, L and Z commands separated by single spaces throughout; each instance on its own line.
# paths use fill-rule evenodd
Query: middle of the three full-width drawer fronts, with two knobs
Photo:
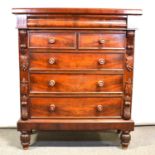
M 37 74 L 30 75 L 31 92 L 120 92 L 122 75 Z

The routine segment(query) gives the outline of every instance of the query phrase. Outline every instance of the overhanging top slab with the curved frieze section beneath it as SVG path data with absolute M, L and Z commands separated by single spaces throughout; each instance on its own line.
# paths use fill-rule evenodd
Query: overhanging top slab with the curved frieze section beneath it
M 17 28 L 127 28 L 129 15 L 140 9 L 14 8 Z

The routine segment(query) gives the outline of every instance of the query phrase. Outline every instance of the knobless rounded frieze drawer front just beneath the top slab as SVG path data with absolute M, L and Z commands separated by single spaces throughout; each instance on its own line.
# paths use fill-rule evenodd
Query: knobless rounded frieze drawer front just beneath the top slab
M 50 15 L 29 17 L 27 25 L 39 28 L 126 28 L 126 16 Z

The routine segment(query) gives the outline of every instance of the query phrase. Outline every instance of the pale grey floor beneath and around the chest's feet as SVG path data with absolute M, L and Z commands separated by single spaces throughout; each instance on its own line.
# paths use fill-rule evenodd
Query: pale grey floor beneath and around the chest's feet
M 115 132 L 39 132 L 22 150 L 16 129 L 0 129 L 0 155 L 155 155 L 155 126 L 136 127 L 122 150 Z

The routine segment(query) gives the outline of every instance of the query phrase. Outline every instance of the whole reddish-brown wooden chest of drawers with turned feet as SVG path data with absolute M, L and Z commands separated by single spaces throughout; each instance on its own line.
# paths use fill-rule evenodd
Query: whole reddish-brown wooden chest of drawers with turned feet
M 134 29 L 129 9 L 18 8 L 21 143 L 33 130 L 116 130 L 131 120 Z

